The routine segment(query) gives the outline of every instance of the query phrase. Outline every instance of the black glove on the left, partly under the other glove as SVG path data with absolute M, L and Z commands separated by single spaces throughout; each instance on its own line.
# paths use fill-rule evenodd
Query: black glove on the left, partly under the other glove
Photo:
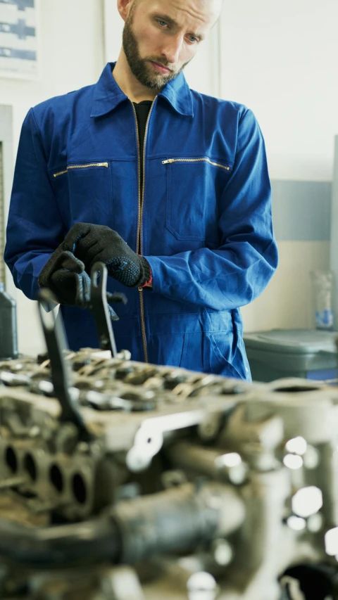
M 49 288 L 61 304 L 87 307 L 91 281 L 84 264 L 59 245 L 39 274 L 39 286 Z

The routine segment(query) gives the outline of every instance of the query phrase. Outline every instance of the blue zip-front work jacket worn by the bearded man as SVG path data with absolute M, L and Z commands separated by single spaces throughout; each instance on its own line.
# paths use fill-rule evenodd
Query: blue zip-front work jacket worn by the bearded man
M 239 307 L 277 266 L 270 182 L 251 110 L 189 89 L 151 108 L 140 189 L 137 121 L 108 63 L 99 82 L 32 108 L 20 136 L 5 260 L 35 299 L 44 264 L 77 222 L 108 225 L 151 265 L 113 323 L 132 359 L 250 378 Z M 70 348 L 98 347 L 88 310 L 62 306 Z

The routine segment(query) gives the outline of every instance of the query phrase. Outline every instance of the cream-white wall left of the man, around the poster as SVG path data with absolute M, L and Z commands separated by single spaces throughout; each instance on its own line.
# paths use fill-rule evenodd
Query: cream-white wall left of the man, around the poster
M 42 76 L 38 82 L 0 79 L 0 103 L 13 107 L 13 150 L 31 106 L 58 94 L 95 82 L 104 65 L 104 24 L 101 0 L 41 0 Z M 6 193 L 6 203 L 9 202 Z M 8 291 L 18 302 L 20 352 L 35 355 L 44 348 L 35 302 L 15 290 L 11 275 Z

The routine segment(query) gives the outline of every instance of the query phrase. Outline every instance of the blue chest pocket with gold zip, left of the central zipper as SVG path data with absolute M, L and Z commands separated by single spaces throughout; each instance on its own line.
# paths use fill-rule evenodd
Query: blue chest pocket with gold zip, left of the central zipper
M 51 179 L 65 222 L 113 226 L 109 162 L 67 165 L 52 173 Z

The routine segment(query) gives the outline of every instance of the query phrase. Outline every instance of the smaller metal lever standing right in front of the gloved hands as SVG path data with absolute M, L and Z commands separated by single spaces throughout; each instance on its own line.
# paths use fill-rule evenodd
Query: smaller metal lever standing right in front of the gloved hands
M 89 308 L 94 315 L 101 350 L 111 350 L 111 355 L 115 357 L 118 352 L 116 350 L 113 328 L 111 326 L 111 317 L 108 309 L 107 277 L 108 271 L 106 265 L 103 262 L 96 262 L 93 265 L 90 274 L 92 287 L 90 290 Z M 112 295 L 111 298 L 112 300 L 123 301 L 122 295 Z

